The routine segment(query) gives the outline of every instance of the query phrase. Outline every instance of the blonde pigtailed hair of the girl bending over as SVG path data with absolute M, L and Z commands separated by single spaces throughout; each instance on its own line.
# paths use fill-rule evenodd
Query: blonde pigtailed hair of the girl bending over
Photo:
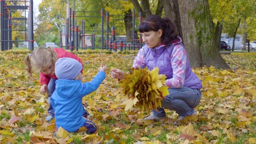
M 31 57 L 31 60 L 30 60 Z M 31 54 L 28 54 L 24 58 L 24 63 L 26 64 L 26 70 L 28 71 L 28 78 L 32 79 L 32 65 L 37 70 L 41 71 L 48 68 L 49 66 L 55 66 L 58 56 L 53 48 L 38 48 L 34 50 Z

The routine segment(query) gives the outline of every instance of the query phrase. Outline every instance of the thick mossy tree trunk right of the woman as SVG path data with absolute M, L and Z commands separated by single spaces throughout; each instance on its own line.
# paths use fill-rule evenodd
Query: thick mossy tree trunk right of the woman
M 208 0 L 179 0 L 184 44 L 192 68 L 214 66 L 230 69 L 214 38 Z

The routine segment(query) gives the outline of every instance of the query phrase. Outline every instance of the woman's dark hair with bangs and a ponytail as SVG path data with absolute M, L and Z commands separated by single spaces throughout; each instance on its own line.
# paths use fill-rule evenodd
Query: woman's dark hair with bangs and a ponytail
M 161 41 L 166 46 L 170 46 L 172 40 L 179 40 L 177 36 L 177 27 L 168 17 L 161 18 L 157 15 L 150 15 L 139 25 L 140 32 L 158 32 L 158 30 L 162 30 Z

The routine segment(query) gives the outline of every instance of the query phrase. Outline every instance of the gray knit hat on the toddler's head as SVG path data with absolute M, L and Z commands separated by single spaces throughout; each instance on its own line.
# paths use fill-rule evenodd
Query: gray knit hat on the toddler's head
M 73 58 L 59 58 L 55 63 L 55 75 L 58 79 L 74 80 L 82 68 L 82 64 Z

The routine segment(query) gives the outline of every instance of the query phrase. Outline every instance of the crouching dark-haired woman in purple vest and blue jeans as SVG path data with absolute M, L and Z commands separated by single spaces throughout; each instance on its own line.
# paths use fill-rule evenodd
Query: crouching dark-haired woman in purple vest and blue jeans
M 166 118 L 164 108 L 177 112 L 180 116 L 177 121 L 196 114 L 194 108 L 201 100 L 202 82 L 190 68 L 174 23 L 169 18 L 150 15 L 138 29 L 145 46 L 138 52 L 132 67 L 147 66 L 149 70 L 158 67 L 159 74 L 166 75 L 165 84 L 169 86 L 169 95 L 163 98 L 162 108 L 158 108 L 158 111 L 152 110 L 152 114 L 144 119 Z M 111 70 L 111 74 L 112 78 L 125 78 L 124 72 L 116 68 Z M 174 124 L 177 124 L 177 121 Z

